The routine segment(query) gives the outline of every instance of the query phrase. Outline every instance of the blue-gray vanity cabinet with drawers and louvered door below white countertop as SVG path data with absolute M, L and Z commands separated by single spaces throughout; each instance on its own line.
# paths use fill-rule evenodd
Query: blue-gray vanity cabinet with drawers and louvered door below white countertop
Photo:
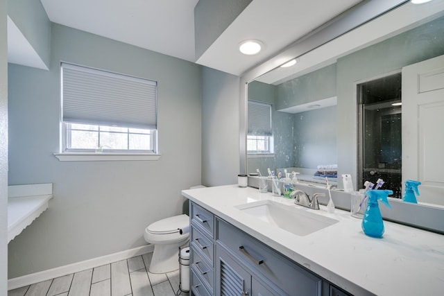
M 348 295 L 194 202 L 190 219 L 190 295 Z

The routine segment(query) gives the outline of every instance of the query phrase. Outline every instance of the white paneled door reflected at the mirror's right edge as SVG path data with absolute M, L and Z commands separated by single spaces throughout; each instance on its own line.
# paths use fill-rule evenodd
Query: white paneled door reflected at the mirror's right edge
M 402 68 L 402 185 L 444 205 L 444 55 Z

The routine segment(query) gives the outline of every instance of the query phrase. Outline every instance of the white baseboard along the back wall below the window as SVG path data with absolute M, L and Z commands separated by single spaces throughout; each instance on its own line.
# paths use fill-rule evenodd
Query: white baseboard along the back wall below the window
M 69 265 L 60 266 L 58 268 L 52 268 L 49 270 L 43 270 L 40 272 L 32 273 L 31 275 L 24 275 L 22 277 L 15 277 L 8 279 L 8 290 L 28 286 L 31 284 L 39 283 L 40 281 L 46 281 L 48 279 L 55 279 L 56 277 L 62 277 L 64 275 L 70 275 L 74 272 L 95 268 L 101 265 L 125 260 L 134 256 L 153 252 L 154 245 L 143 245 L 142 247 L 135 247 L 131 250 L 126 250 L 114 254 L 101 256 L 94 259 L 80 261 Z

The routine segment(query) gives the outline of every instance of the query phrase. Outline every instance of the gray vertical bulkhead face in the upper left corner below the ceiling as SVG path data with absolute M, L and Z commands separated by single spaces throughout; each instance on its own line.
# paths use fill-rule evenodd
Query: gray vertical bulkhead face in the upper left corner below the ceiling
M 42 3 L 35 0 L 8 1 L 8 15 L 49 68 L 51 21 Z

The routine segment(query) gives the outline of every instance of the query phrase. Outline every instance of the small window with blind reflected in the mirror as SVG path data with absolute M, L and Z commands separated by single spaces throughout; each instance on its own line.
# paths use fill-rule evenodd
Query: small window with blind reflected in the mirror
M 247 153 L 273 153 L 270 104 L 248 101 Z

